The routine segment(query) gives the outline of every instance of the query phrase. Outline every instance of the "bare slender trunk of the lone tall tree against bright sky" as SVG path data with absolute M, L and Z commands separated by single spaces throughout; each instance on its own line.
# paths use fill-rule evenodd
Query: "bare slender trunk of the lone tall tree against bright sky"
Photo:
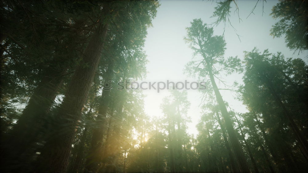
M 212 71 L 209 71 L 209 77 L 211 79 L 211 83 L 212 83 L 212 86 L 213 86 L 213 89 L 214 89 L 214 92 L 215 92 L 215 96 L 216 96 L 216 99 L 217 99 L 217 102 L 218 102 L 218 106 L 219 106 L 221 114 L 222 114 L 222 116 L 224 117 L 224 120 L 225 120 L 226 129 L 227 129 L 227 132 L 228 132 L 228 135 L 229 135 L 229 138 L 230 138 L 230 142 L 232 144 L 232 147 L 233 147 L 233 150 L 234 150 L 234 153 L 235 153 L 235 157 L 237 159 L 239 171 L 240 172 L 250 172 L 249 167 L 247 165 L 247 161 L 246 161 L 245 156 L 242 152 L 242 148 L 241 148 L 241 146 L 238 142 L 236 133 L 234 131 L 229 112 L 226 108 L 225 102 L 222 99 L 222 96 L 221 96 L 219 89 L 216 85 Z

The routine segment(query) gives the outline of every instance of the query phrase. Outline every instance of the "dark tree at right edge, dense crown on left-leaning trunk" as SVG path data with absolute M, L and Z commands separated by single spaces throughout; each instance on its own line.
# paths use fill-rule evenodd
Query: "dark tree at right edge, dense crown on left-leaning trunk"
M 245 54 L 245 62 L 246 62 L 246 72 L 244 81 L 245 82 L 255 82 L 257 85 L 261 85 L 266 88 L 267 92 L 271 95 L 271 100 L 274 102 L 275 107 L 278 107 L 282 110 L 282 114 L 285 116 L 290 129 L 292 129 L 295 139 L 298 142 L 298 146 L 302 151 L 302 154 L 306 159 L 308 159 L 308 143 L 305 136 L 302 134 L 302 131 L 299 130 L 298 125 L 294 121 L 294 117 L 291 115 L 290 110 L 287 108 L 287 105 L 292 104 L 289 102 L 287 105 L 282 101 L 282 97 L 285 95 L 282 94 L 282 91 L 290 91 L 290 89 L 294 89 L 294 87 L 286 87 L 286 82 L 288 82 L 288 78 L 285 75 L 282 75 L 279 70 L 277 70 L 277 66 L 282 66 L 282 62 L 284 61 L 283 56 L 280 53 L 278 55 L 274 55 L 270 57 L 271 54 L 268 50 L 265 50 L 262 54 L 258 52 L 257 49 L 253 49 L 252 52 L 246 52 Z M 293 61 L 293 63 L 296 61 Z M 292 62 L 290 62 L 292 63 Z M 294 64 L 295 65 L 295 64 Z M 284 69 L 281 67 L 280 69 Z M 306 65 L 301 65 L 301 70 L 306 71 Z M 285 69 L 287 71 L 287 69 Z M 286 71 L 284 73 L 286 73 Z M 294 72 L 293 72 L 294 73 Z M 253 77 L 252 77 L 253 75 Z M 251 78 L 248 79 L 247 77 Z M 253 81 L 255 80 L 255 81 Z M 300 81 L 304 79 L 299 79 Z M 298 83 L 299 86 L 305 86 L 306 82 L 303 81 Z M 279 87 L 277 87 L 279 86 Z M 292 90 L 291 90 L 292 91 Z M 280 92 L 280 93 L 279 93 Z M 304 92 L 305 93 L 305 92 Z M 301 105 L 301 104 L 299 104 Z

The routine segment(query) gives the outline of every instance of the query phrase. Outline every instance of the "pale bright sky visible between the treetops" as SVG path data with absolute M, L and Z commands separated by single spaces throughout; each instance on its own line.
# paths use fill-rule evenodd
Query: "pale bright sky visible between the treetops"
M 272 7 L 278 1 L 268 0 L 264 2 L 264 13 L 262 16 L 262 1 L 258 3 L 254 14 L 249 15 L 257 1 L 237 1 L 239 7 L 239 15 L 242 19 L 239 23 L 237 14 L 233 15 L 234 6 L 231 9 L 232 16 L 230 21 L 237 29 L 237 33 L 241 36 L 239 41 L 233 28 L 227 24 L 225 31 L 225 40 L 227 49 L 225 57 L 238 56 L 243 59 L 243 51 L 251 51 L 257 47 L 261 51 L 269 49 L 270 53 L 277 51 L 282 52 L 285 57 L 302 57 L 306 62 L 308 52 L 303 52 L 299 56 L 297 53 L 293 55 L 293 51 L 286 48 L 284 38 L 273 38 L 270 36 L 271 26 L 276 22 L 269 14 Z M 185 44 L 183 37 L 186 35 L 186 27 L 190 26 L 190 22 L 194 18 L 201 18 L 205 23 L 212 23 L 215 18 L 210 18 L 213 14 L 216 2 L 212 1 L 160 1 L 160 8 L 157 10 L 157 16 L 153 20 L 153 27 L 148 29 L 148 37 L 146 38 L 145 51 L 148 55 L 148 74 L 144 81 L 174 81 L 184 80 L 197 81 L 188 78 L 184 74 L 184 66 L 192 59 L 192 50 Z M 222 35 L 223 24 L 214 27 L 216 35 Z M 242 83 L 241 75 L 231 75 L 225 77 L 227 83 L 232 84 L 233 81 Z M 222 88 L 223 86 L 221 86 Z M 169 95 L 167 89 L 157 93 L 156 90 L 144 90 L 146 95 L 144 99 L 145 112 L 149 116 L 162 116 L 160 104 L 162 98 Z M 231 108 L 237 112 L 245 112 L 245 106 L 233 98 L 232 93 L 221 91 L 225 101 L 229 102 Z M 188 124 L 188 133 L 197 134 L 195 125 L 200 116 L 201 95 L 196 90 L 188 90 L 188 100 L 191 102 L 188 116 L 191 117 L 192 123 Z

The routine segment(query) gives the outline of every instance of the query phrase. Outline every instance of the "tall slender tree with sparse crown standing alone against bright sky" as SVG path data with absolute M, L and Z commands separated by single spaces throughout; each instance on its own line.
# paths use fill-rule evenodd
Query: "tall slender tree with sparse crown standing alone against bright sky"
M 184 38 L 185 41 L 194 50 L 194 55 L 199 54 L 203 57 L 203 60 L 199 63 L 202 67 L 199 67 L 197 64 L 197 67 L 193 68 L 195 68 L 199 74 L 210 78 L 217 103 L 225 120 L 226 129 L 234 149 L 239 171 L 249 172 L 249 168 L 234 131 L 229 112 L 215 81 L 215 75 L 219 74 L 221 70 L 226 70 L 227 73 L 237 71 L 236 65 L 239 64 L 239 59 L 236 57 L 230 57 L 225 60 L 223 58 L 226 45 L 223 37 L 214 36 L 213 28 L 209 28 L 206 24 L 203 24 L 201 19 L 194 19 L 193 22 L 191 22 L 191 27 L 186 28 L 186 30 L 187 36 Z M 222 65 L 223 67 L 217 70 L 214 68 L 214 65 L 217 64 Z

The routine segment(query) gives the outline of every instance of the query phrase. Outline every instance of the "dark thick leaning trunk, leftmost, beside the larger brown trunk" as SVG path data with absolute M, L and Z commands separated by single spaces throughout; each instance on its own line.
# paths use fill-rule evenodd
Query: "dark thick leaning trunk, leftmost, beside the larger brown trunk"
M 6 166 L 12 165 L 12 168 L 16 169 L 17 164 L 27 165 L 31 161 L 30 158 L 37 148 L 34 143 L 38 141 L 38 136 L 42 136 L 42 133 L 47 130 L 42 129 L 41 126 L 63 83 L 62 76 L 65 72 L 66 69 L 59 70 L 55 67 L 48 67 L 45 71 L 18 123 L 10 132 L 10 136 L 7 136 L 8 143 L 5 150 L 9 153 L 5 156 L 8 162 Z

